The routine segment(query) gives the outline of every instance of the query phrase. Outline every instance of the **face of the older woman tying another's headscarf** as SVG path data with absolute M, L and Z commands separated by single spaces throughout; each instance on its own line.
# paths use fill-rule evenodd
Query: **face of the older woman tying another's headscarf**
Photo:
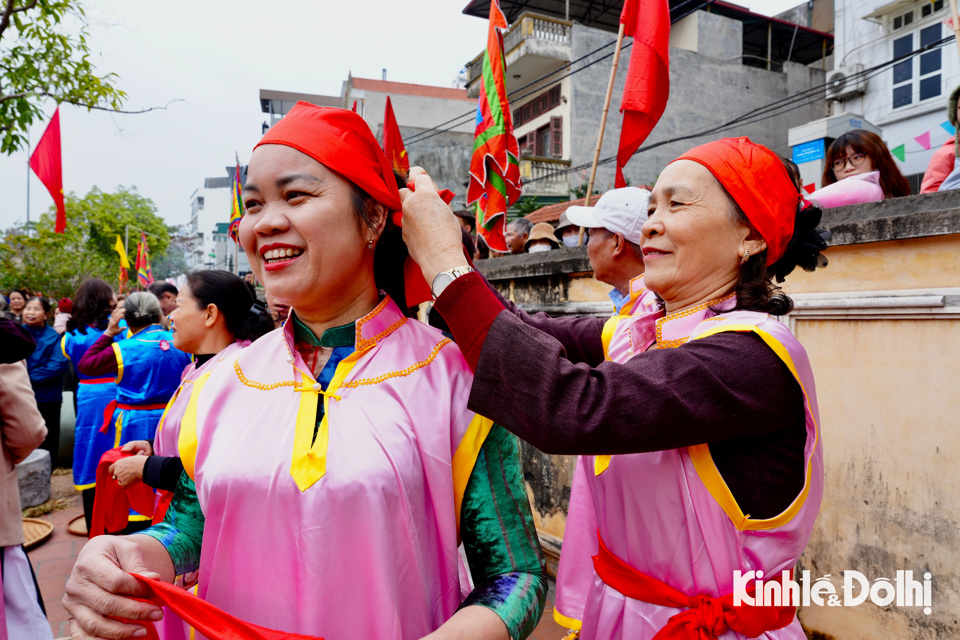
M 672 313 L 731 291 L 743 249 L 757 255 L 762 240 L 733 221 L 730 199 L 705 167 L 678 160 L 660 174 L 641 229 L 644 284 Z M 762 248 L 760 248 L 762 244 Z

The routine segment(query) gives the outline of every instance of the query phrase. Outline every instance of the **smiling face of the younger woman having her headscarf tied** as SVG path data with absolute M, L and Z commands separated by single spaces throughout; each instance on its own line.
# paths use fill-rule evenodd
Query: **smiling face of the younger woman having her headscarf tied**
M 349 182 L 291 147 L 267 144 L 250 158 L 243 198 L 240 242 L 271 297 L 301 317 L 335 314 L 331 307 L 371 290 L 375 299 L 367 247 L 378 233 L 359 223 Z

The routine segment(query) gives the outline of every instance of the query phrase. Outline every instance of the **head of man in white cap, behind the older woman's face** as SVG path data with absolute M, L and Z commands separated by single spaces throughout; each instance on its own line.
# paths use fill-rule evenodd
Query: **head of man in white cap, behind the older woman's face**
M 637 187 L 607 191 L 592 207 L 569 207 L 570 222 L 590 232 L 587 255 L 594 277 L 613 285 L 617 312 L 630 300 L 630 281 L 643 273 L 640 227 L 647 221 L 650 192 Z

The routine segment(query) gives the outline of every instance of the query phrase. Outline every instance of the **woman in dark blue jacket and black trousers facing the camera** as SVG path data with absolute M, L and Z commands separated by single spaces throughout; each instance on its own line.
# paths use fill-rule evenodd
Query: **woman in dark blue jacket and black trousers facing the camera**
M 33 395 L 37 398 L 37 409 L 47 425 L 47 437 L 40 448 L 50 452 L 50 464 L 55 467 L 60 449 L 63 376 L 70 363 L 60 351 L 60 334 L 47 324 L 52 308 L 46 298 L 30 298 L 23 308 L 23 325 L 37 343 L 37 348 L 27 358 L 27 371 L 30 373 Z

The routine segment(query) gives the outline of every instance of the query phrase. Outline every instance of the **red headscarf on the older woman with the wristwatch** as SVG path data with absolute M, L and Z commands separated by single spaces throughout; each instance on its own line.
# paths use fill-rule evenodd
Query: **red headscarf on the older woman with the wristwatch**
M 783 256 L 793 237 L 800 194 L 777 154 L 749 138 L 723 138 L 695 147 L 677 160 L 703 165 L 723 185 L 766 240 L 767 266 Z

